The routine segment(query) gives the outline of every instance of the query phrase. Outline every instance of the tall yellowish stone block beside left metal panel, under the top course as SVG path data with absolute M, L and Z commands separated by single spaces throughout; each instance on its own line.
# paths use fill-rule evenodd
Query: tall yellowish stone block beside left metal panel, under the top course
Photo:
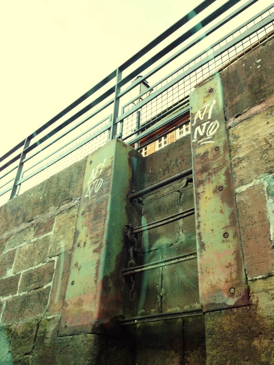
M 56 218 L 50 257 L 72 250 L 79 206 L 66 210 Z

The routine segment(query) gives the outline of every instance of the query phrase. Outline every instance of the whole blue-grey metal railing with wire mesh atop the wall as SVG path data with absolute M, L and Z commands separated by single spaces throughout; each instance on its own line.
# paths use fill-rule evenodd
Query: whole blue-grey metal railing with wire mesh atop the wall
M 235 17 L 257 1 L 227 0 L 222 5 L 214 0 L 202 1 L 4 154 L 0 158 L 0 205 L 110 139 L 121 138 L 134 145 L 186 114 L 189 94 L 199 82 L 268 41 L 273 34 L 274 7 L 269 5 L 217 38 L 225 25 L 231 20 L 235 23 Z M 212 7 L 214 11 L 210 12 Z M 178 32 L 182 34 L 178 36 Z M 140 73 L 144 76 L 132 82 Z M 147 85 L 145 93 L 130 97 L 130 92 L 146 79 L 152 86 Z

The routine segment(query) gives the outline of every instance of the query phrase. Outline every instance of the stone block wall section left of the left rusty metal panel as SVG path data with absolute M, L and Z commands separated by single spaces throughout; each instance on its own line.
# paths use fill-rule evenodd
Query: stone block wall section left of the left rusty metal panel
M 0 208 L 0 364 L 30 364 L 45 322 L 60 317 L 85 160 Z

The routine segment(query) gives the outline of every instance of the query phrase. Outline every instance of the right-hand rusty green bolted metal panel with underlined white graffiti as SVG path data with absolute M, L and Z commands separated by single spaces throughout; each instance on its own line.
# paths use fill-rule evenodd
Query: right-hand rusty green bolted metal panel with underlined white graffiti
M 190 95 L 199 295 L 203 311 L 248 304 L 219 75 Z

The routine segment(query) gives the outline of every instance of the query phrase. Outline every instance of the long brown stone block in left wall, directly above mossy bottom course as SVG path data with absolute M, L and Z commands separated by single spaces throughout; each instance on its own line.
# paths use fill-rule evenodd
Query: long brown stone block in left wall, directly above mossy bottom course
M 46 312 L 49 292 L 50 288 L 46 288 L 8 299 L 2 316 L 3 323 L 12 324 L 43 316 Z

